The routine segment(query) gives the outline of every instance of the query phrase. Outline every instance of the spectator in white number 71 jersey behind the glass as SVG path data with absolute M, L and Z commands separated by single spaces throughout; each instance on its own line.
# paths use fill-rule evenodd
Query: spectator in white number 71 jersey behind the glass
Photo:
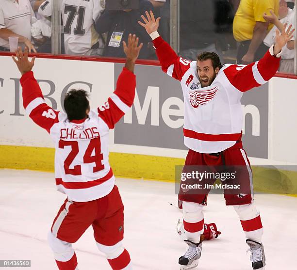
M 62 0 L 66 54 L 101 55 L 100 36 L 94 23 L 104 7 L 102 0 Z

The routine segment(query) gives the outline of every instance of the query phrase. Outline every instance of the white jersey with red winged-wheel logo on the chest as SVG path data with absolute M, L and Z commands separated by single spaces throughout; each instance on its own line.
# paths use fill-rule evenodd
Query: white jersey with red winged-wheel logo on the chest
M 240 99 L 243 92 L 266 83 L 277 72 L 280 58 L 273 55 L 273 49 L 260 61 L 246 66 L 224 65 L 213 83 L 201 88 L 196 61 L 178 57 L 160 36 L 153 43 L 163 71 L 181 81 L 184 144 L 199 153 L 218 153 L 240 141 Z

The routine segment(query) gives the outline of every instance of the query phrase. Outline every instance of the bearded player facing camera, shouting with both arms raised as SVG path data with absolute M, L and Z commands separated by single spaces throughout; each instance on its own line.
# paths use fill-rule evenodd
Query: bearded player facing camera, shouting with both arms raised
M 179 57 L 157 32 L 160 17 L 146 12 L 139 21 L 153 40 L 162 70 L 181 82 L 184 96 L 184 143 L 189 148 L 185 160 L 188 165 L 242 166 L 244 172 L 236 181 L 244 183 L 244 193 L 226 194 L 226 205 L 233 206 L 239 216 L 250 248 L 253 269 L 265 266 L 262 244 L 263 226 L 259 211 L 253 203 L 252 173 L 241 136 L 243 112 L 240 99 L 244 92 L 260 86 L 271 79 L 278 70 L 281 49 L 292 38 L 294 30 L 289 26 L 277 31 L 275 45 L 264 57 L 249 65 L 222 65 L 212 52 L 198 55 L 197 61 Z M 185 168 L 184 167 L 184 168 Z M 195 268 L 201 256 L 204 216 L 207 194 L 188 194 L 182 190 L 183 226 L 188 250 L 179 258 L 180 269 Z

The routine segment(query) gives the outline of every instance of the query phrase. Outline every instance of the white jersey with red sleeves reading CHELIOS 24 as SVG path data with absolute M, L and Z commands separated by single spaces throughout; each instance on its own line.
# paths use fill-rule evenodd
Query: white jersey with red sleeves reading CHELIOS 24
M 55 143 L 55 178 L 58 191 L 75 202 L 106 196 L 115 185 L 108 162 L 108 132 L 132 106 L 135 75 L 124 68 L 114 94 L 88 118 L 69 122 L 66 113 L 44 101 L 40 87 L 27 72 L 20 80 L 26 114 L 45 128 Z

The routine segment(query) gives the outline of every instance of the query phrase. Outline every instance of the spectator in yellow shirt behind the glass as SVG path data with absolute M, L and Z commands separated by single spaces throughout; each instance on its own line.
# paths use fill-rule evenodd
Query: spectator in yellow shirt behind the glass
M 260 60 L 267 51 L 263 40 L 271 30 L 264 13 L 272 10 L 279 14 L 279 0 L 241 0 L 233 21 L 233 36 L 240 42 L 237 64 L 249 64 Z

